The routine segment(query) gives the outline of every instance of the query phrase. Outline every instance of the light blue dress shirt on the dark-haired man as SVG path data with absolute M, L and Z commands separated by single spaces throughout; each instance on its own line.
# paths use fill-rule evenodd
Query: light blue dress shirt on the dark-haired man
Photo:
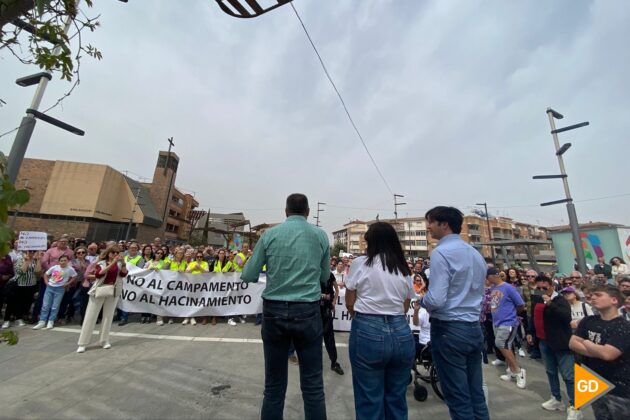
M 479 321 L 487 265 L 459 235 L 446 235 L 431 253 L 429 291 L 421 301 L 432 318 Z

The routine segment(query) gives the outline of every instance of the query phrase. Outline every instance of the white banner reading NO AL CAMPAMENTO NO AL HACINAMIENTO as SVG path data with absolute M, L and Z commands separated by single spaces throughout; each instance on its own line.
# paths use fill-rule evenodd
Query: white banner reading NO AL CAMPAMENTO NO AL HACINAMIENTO
M 265 283 L 243 283 L 240 273 L 184 274 L 128 268 L 118 302 L 126 312 L 178 318 L 262 312 Z

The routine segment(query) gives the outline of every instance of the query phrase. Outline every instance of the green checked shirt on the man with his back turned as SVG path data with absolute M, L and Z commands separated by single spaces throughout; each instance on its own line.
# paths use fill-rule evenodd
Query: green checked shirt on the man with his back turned
M 330 276 L 328 237 L 303 216 L 289 216 L 269 229 L 254 248 L 241 280 L 257 282 L 267 265 L 267 286 L 263 298 L 289 302 L 316 302 L 320 283 Z

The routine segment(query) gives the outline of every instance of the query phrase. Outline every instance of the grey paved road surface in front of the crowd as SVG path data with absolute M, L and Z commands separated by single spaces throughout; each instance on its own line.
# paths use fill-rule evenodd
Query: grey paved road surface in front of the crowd
M 131 323 L 114 326 L 112 348 L 90 347 L 77 354 L 79 327 L 51 331 L 17 328 L 20 342 L 0 346 L 0 418 L 257 418 L 263 392 L 263 355 L 259 327 L 158 327 Z M 354 418 L 346 333 L 337 334 L 346 375 L 324 366 L 330 419 Z M 97 336 L 94 336 L 97 341 Z M 325 354 L 325 352 L 324 352 Z M 549 398 L 540 363 L 520 359 L 528 388 L 499 380 L 501 368 L 484 366 L 494 419 L 564 419 L 540 403 Z M 446 419 L 446 406 L 430 391 L 413 399 L 409 418 Z M 285 418 L 303 418 L 298 367 L 290 365 Z M 586 419 L 592 419 L 587 409 Z

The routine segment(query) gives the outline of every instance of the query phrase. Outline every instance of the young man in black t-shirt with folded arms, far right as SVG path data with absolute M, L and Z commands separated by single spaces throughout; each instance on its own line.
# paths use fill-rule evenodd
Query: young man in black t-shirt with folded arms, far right
M 615 386 L 593 402 L 597 420 L 630 418 L 630 323 L 618 312 L 624 298 L 616 287 L 595 287 L 592 302 L 599 315 L 580 321 L 569 343 L 583 365 Z

